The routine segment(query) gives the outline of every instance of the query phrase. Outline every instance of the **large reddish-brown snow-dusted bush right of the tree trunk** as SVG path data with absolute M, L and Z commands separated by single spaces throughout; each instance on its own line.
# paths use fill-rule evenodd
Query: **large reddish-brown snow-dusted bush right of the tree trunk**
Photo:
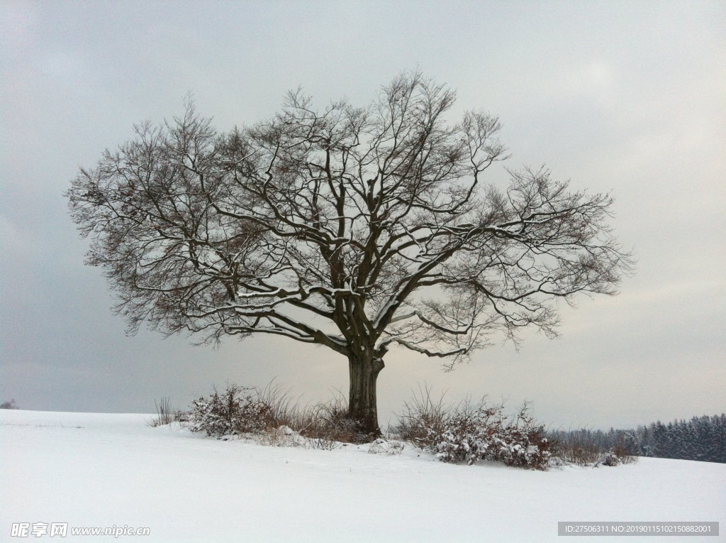
M 463 401 L 455 407 L 446 406 L 443 398 L 434 403 L 427 388 L 405 404 L 398 431 L 401 438 L 433 452 L 443 462 L 493 460 L 547 469 L 550 443 L 544 426 L 536 425 L 529 414 L 529 404 L 511 420 L 503 409 L 503 405 L 488 406 L 484 399 Z

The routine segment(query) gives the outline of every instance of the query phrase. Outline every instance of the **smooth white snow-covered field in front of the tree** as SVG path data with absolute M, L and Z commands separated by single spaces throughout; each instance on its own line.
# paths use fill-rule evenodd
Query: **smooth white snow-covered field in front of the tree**
M 568 542 L 558 521 L 719 521 L 726 464 L 619 467 L 444 464 L 407 447 L 334 451 L 218 441 L 151 415 L 0 410 L 0 541 Z M 68 523 L 65 539 L 13 523 Z M 150 528 L 141 537 L 78 527 Z M 598 537 L 595 542 L 623 541 Z

